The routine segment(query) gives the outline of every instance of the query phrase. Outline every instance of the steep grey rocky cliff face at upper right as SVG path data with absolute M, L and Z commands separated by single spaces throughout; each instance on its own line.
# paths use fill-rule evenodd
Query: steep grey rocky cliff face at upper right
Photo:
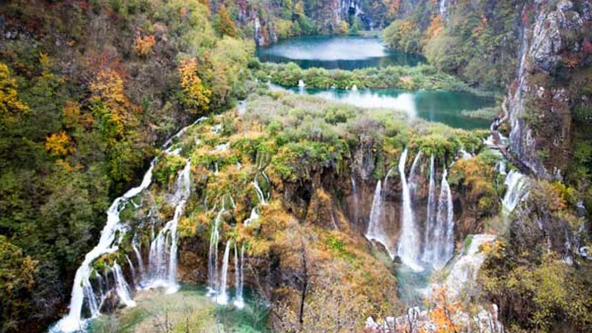
M 520 65 L 509 92 L 510 146 L 543 178 L 561 179 L 568 164 L 578 92 L 565 76 L 590 60 L 580 38 L 590 25 L 590 11 L 589 1 L 575 6 L 535 0 L 523 8 Z

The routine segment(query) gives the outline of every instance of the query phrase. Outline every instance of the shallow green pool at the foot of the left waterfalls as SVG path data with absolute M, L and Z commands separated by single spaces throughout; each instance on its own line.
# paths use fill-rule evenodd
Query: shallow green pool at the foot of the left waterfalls
M 184 284 L 174 294 L 144 290 L 134 299 L 134 308 L 118 309 L 91 322 L 89 332 L 266 332 L 268 310 L 265 303 L 244 290 L 245 306 L 221 306 L 206 295 L 205 286 Z

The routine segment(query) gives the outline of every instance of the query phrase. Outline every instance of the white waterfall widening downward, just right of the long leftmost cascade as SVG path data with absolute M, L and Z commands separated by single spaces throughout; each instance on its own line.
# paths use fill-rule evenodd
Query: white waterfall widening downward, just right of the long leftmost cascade
M 176 204 L 173 219 L 166 223 L 156 238 L 150 244 L 149 268 L 150 281 L 146 287 L 166 287 L 167 293 L 179 289 L 177 276 L 177 225 L 185 210 L 185 204 L 191 194 L 191 161 L 187 161 L 185 168 L 179 174 L 176 182 L 172 203 Z

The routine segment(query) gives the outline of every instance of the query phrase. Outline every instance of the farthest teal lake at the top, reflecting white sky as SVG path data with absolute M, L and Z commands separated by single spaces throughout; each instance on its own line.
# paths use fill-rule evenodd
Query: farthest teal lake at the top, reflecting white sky
M 262 62 L 294 62 L 301 68 L 358 69 L 383 66 L 415 66 L 426 62 L 421 55 L 389 50 L 377 37 L 306 36 L 260 47 Z

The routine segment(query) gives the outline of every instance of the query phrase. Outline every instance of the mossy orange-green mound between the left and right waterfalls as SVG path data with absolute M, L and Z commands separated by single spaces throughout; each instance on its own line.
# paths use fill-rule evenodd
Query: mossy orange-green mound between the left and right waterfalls
M 181 248 L 191 249 L 181 253 L 179 264 L 190 281 L 205 282 L 194 272 L 208 269 L 203 258 L 220 214 L 220 244 L 246 246 L 251 284 L 272 305 L 275 330 L 359 331 L 369 315 L 399 314 L 403 308 L 392 307 L 399 304 L 396 280 L 378 260 L 382 254 L 368 251 L 344 204 L 344 184 L 362 138 L 372 137 L 379 161 L 374 176 L 383 178 L 406 147 L 450 164 L 461 148 L 481 149 L 486 132 L 420 120 L 410 124 L 398 111 L 272 92 L 265 84 L 253 88 L 243 114 L 233 110 L 209 117 L 175 142 L 181 156 L 157 162 L 156 186 L 141 199 L 156 205 L 135 212 L 128 205 L 134 213 L 125 215 L 133 229 L 127 235 L 139 235 L 141 248 L 149 247 L 145 223 L 157 219 L 162 225 L 171 218 L 167 196 L 177 171 L 191 158 L 194 194 L 179 223 Z M 270 194 L 266 204 L 260 204 L 256 178 Z M 159 207 L 156 215 L 153 207 Z M 260 217 L 244 224 L 255 207 Z M 95 269 L 124 260 L 126 252 L 133 255 L 130 242 L 126 237 L 123 251 L 104 255 Z

